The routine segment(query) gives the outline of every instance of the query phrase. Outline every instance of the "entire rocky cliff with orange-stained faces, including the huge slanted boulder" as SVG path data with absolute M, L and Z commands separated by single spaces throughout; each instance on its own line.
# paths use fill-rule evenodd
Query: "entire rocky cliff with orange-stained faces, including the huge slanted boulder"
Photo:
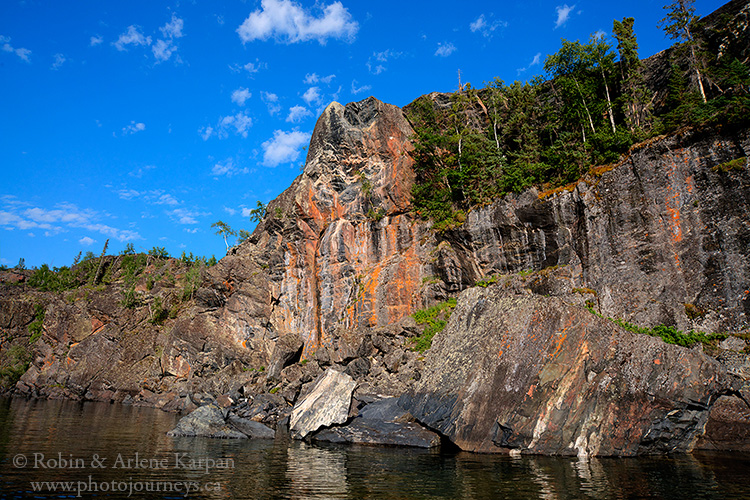
M 412 134 L 375 98 L 329 105 L 300 176 L 187 295 L 174 259 L 132 290 L 114 258 L 103 285 L 64 294 L 4 274 L 1 359 L 25 370 L 13 391 L 177 411 L 220 397 L 276 426 L 333 369 L 357 382 L 350 417 L 401 396 L 467 450 L 750 446 L 745 424 L 727 432 L 750 421 L 750 132 L 657 137 L 442 232 L 410 207 Z M 411 315 L 457 296 L 426 357 L 413 350 Z M 162 305 L 174 314 L 155 321 Z M 734 337 L 717 361 L 607 318 Z

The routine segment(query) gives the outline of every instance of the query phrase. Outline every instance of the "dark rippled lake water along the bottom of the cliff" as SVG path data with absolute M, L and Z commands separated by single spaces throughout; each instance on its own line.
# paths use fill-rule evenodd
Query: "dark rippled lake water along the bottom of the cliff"
M 170 438 L 149 408 L 0 399 L 0 498 L 750 498 L 750 455 L 474 455 Z

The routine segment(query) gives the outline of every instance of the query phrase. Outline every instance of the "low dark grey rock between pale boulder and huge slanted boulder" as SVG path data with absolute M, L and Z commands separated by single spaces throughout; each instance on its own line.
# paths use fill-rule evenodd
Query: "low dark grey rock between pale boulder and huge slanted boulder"
M 323 429 L 313 441 L 386 446 L 435 448 L 440 436 L 414 422 L 409 412 L 398 406 L 398 398 L 385 398 L 359 411 L 342 427 Z

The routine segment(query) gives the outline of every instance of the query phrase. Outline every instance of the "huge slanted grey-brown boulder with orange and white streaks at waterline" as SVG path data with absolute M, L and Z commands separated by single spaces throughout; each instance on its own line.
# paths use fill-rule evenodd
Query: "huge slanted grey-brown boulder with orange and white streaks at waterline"
M 467 451 L 631 456 L 691 450 L 731 384 L 701 352 L 494 286 L 461 295 L 399 404 Z

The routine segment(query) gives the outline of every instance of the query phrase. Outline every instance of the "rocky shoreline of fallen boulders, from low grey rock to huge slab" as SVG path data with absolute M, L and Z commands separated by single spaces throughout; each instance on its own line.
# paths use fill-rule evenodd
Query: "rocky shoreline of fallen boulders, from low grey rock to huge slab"
M 717 359 L 700 344 L 634 334 L 576 304 L 563 272 L 545 279 L 554 294 L 510 277 L 461 294 L 400 397 L 328 368 L 294 406 L 276 394 L 223 396 L 170 435 L 579 457 L 748 449 L 750 355 L 733 350 L 744 341 L 723 341 Z

